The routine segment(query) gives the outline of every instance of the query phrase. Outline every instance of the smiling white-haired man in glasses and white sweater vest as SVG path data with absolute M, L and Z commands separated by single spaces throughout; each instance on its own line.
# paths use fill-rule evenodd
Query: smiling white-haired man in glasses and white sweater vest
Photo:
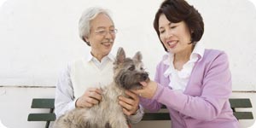
M 79 36 L 90 46 L 90 55 L 73 61 L 61 73 L 55 90 L 55 114 L 62 114 L 74 108 L 90 108 L 102 100 L 104 85 L 113 79 L 113 47 L 117 30 L 106 9 L 90 8 L 85 10 L 79 20 Z M 127 90 L 126 98 L 119 97 L 119 104 L 128 115 L 131 123 L 137 123 L 143 117 L 138 107 L 139 98 Z

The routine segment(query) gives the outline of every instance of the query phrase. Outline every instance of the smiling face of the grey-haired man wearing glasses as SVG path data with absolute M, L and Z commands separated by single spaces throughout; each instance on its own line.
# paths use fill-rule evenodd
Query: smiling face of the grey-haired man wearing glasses
M 91 54 L 94 56 L 108 55 L 113 47 L 115 38 L 113 21 L 105 14 L 99 14 L 90 21 L 90 36 L 86 41 L 90 43 Z

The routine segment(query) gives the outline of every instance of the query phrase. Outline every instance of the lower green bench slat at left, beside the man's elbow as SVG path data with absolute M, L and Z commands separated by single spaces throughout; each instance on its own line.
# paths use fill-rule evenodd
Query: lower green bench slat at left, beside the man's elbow
M 27 121 L 54 121 L 55 113 L 30 113 Z

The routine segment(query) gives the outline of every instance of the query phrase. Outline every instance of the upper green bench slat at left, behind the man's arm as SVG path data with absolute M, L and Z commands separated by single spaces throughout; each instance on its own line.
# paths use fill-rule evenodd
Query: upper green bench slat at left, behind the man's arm
M 55 99 L 33 99 L 31 108 L 55 108 Z

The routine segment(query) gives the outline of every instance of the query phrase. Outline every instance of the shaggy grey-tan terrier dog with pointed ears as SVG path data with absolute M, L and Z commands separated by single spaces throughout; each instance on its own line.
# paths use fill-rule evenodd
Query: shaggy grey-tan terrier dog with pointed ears
M 92 108 L 67 112 L 55 121 L 54 128 L 129 128 L 118 96 L 125 96 L 125 90 L 142 88 L 140 82 L 149 80 L 148 73 L 143 68 L 140 52 L 131 59 L 119 48 L 113 65 L 113 82 L 102 87 L 102 102 Z

